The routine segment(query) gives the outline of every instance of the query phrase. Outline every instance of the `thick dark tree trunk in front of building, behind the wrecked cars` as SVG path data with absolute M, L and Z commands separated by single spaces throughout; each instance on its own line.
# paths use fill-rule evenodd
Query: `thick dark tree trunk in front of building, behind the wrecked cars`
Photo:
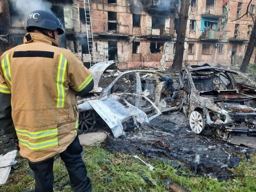
M 186 28 L 188 22 L 189 1 L 181 0 L 179 13 L 179 27 L 177 29 L 177 40 L 175 42 L 175 55 L 173 58 L 172 72 L 177 72 L 182 68 L 184 55 L 184 42 L 186 36 Z

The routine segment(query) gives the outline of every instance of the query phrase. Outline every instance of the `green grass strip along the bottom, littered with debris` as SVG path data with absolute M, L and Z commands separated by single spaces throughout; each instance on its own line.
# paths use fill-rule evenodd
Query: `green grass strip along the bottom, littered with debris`
M 135 159 L 131 154 L 112 154 L 104 150 L 100 143 L 90 147 L 84 147 L 86 153 L 83 156 L 88 169 L 88 176 L 92 179 L 93 191 L 171 191 L 173 184 L 168 189 L 164 182 L 171 180 L 180 184 L 189 191 L 221 191 L 221 192 L 250 192 L 256 191 L 256 155 L 251 154 L 252 162 L 246 161 L 245 156 L 240 156 L 243 160 L 237 168 L 230 169 L 234 175 L 243 174 L 244 177 L 231 177 L 227 181 L 219 182 L 217 179 L 209 177 L 184 177 L 177 174 L 182 171 L 182 175 L 193 175 L 186 168 L 177 170 L 170 162 L 166 163 L 159 159 L 151 159 L 137 154 L 143 161 L 154 166 L 152 172 L 148 166 L 139 159 Z M 19 192 L 26 189 L 33 189 L 35 182 L 28 167 L 28 161 L 17 156 L 19 167 L 13 170 L 8 181 L 0 188 L 0 191 Z M 148 179 L 146 182 L 144 179 Z M 68 180 L 68 173 L 60 158 L 54 163 L 54 186 L 64 186 L 61 191 L 72 191 L 69 185 L 65 186 Z M 150 183 L 151 182 L 151 183 Z M 183 189 L 184 190 L 184 189 Z M 54 189 L 54 191 L 59 191 Z

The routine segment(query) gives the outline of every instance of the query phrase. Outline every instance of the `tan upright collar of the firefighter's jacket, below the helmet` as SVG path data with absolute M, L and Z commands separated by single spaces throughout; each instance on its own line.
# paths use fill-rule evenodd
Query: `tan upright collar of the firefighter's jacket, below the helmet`
M 41 33 L 27 33 L 23 38 L 23 42 L 24 44 L 29 44 L 31 42 L 42 42 L 59 47 L 59 44 L 56 40 Z

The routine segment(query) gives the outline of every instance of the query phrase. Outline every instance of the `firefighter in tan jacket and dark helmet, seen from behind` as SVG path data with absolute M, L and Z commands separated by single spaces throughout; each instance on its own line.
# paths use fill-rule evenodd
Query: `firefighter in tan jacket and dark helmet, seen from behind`
M 58 47 L 64 33 L 51 12 L 27 20 L 24 44 L 0 57 L 0 125 L 35 173 L 35 191 L 53 191 L 53 163 L 60 156 L 74 191 L 92 191 L 77 136 L 76 95 L 93 88 L 93 77 L 71 51 Z

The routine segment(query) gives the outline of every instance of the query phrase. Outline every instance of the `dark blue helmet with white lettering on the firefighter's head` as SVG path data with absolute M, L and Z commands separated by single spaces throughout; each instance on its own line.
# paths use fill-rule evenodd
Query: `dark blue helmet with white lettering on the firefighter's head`
M 43 10 L 36 10 L 31 12 L 28 15 L 27 20 L 27 31 L 30 32 L 33 28 L 42 28 L 42 29 L 50 29 L 52 31 L 58 30 L 58 35 L 64 33 L 63 29 L 61 28 L 61 23 L 58 17 L 56 17 L 53 13 L 43 11 Z

